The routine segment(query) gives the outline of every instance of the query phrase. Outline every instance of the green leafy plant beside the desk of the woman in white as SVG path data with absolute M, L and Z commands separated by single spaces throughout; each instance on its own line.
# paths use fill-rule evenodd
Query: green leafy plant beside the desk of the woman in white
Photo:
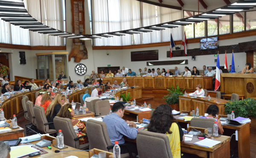
M 166 104 L 179 104 L 179 96 L 183 96 L 183 91 L 185 89 L 181 91 L 180 87 L 177 85 L 176 88 L 172 86 L 167 90 L 169 91 L 168 95 L 163 97 Z

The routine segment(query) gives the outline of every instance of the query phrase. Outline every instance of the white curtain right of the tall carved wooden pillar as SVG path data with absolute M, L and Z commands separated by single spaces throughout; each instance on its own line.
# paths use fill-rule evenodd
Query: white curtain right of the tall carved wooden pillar
M 143 26 L 165 23 L 182 19 L 180 10 L 163 8 L 148 3 L 142 4 Z M 137 0 L 92 0 L 93 34 L 108 31 L 122 31 L 142 27 L 141 2 Z M 109 16 L 109 29 L 108 29 Z M 122 37 L 95 39 L 94 45 L 136 45 L 170 41 L 170 34 L 174 40 L 182 39 L 182 27 L 166 28 L 163 31 L 150 33 L 126 34 Z

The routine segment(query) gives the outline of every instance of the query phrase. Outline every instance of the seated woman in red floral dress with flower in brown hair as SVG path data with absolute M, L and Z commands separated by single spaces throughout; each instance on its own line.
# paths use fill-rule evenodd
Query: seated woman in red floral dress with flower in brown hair
M 86 127 L 83 122 L 74 118 L 75 112 L 70 103 L 63 105 L 61 107 L 61 110 L 57 114 L 57 116 L 63 117 L 63 118 L 70 118 L 77 137 L 86 135 Z M 87 137 L 83 137 L 79 139 L 79 144 L 86 144 L 88 142 L 89 141 Z

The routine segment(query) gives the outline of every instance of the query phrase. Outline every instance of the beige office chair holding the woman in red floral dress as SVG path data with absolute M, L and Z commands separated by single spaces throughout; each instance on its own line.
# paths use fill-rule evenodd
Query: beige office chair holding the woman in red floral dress
M 65 145 L 74 147 L 80 150 L 84 150 L 89 147 L 89 143 L 79 144 L 79 139 L 83 137 L 87 137 L 87 135 L 77 137 L 70 118 L 55 116 L 55 118 L 53 119 L 53 122 L 54 122 L 54 127 L 56 131 L 62 130 L 61 132 L 64 135 Z

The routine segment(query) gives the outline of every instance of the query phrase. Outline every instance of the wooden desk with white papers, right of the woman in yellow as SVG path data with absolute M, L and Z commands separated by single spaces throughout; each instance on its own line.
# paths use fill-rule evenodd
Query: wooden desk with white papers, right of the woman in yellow
M 180 143 L 181 152 L 195 154 L 202 158 L 230 158 L 230 137 L 221 135 L 221 137 L 211 137 L 211 139 L 221 141 L 221 143 L 212 148 L 201 147 L 194 144 L 198 141 L 198 138 L 194 136 L 192 141 Z

